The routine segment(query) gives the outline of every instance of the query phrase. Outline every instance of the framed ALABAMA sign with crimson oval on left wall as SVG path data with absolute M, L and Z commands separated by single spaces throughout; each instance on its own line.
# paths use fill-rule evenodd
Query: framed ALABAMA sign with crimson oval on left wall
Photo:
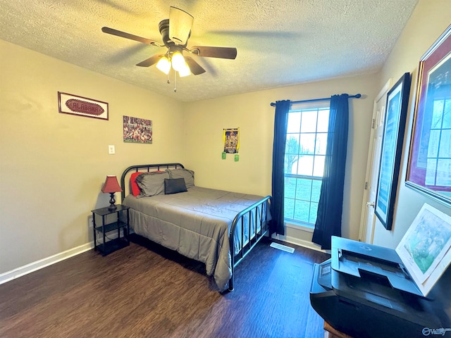
M 63 114 L 108 120 L 108 104 L 83 96 L 58 92 L 58 111 Z

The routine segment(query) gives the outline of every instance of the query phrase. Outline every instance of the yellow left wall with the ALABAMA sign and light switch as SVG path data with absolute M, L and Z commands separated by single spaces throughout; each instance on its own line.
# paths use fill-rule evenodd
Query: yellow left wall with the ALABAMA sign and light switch
M 165 96 L 1 40 L 0 51 L 1 274 L 88 243 L 106 175 L 183 161 L 183 115 Z M 108 102 L 109 120 L 58 113 L 58 91 Z M 154 143 L 123 143 L 123 115 L 152 120 Z

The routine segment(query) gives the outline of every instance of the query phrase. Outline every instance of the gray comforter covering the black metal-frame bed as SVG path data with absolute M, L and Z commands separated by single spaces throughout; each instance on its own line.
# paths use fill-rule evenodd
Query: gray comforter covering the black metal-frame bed
M 216 285 L 223 291 L 232 276 L 230 225 L 237 213 L 261 199 L 256 195 L 191 187 L 187 192 L 140 199 L 130 194 L 123 205 L 130 206 L 130 226 L 137 234 L 205 263 L 206 274 L 213 275 Z M 254 217 L 252 213 L 251 218 Z M 246 215 L 245 222 L 248 218 Z M 243 242 L 249 237 L 247 229 L 245 226 Z M 235 234 L 235 243 L 236 252 L 240 247 L 238 234 Z

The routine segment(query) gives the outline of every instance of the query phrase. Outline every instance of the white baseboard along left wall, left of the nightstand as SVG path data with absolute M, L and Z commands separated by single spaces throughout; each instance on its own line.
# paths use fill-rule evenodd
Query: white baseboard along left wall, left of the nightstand
M 39 261 L 35 261 L 33 263 L 23 265 L 20 268 L 16 268 L 11 271 L 7 271 L 6 273 L 0 274 L 0 284 L 4 284 L 6 282 L 9 282 L 10 280 L 14 280 L 18 277 L 21 277 L 23 275 L 27 275 L 28 273 L 32 273 L 33 271 L 45 268 L 46 266 L 49 266 L 54 263 L 58 263 L 60 261 L 63 261 L 67 258 L 76 256 L 80 253 L 83 253 L 85 251 L 88 251 L 90 249 L 94 249 L 94 243 L 87 243 L 80 246 L 77 246 L 76 248 L 69 249 L 60 253 L 56 253 L 54 256 L 50 256 L 47 258 L 42 258 Z

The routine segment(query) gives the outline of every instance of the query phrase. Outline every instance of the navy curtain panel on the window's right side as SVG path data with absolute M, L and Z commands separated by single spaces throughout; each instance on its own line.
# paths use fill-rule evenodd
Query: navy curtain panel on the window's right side
M 349 126 L 347 98 L 347 94 L 333 95 L 330 98 L 326 160 L 315 230 L 311 239 L 312 242 L 321 245 L 321 249 L 330 249 L 332 236 L 341 237 L 347 132 Z

